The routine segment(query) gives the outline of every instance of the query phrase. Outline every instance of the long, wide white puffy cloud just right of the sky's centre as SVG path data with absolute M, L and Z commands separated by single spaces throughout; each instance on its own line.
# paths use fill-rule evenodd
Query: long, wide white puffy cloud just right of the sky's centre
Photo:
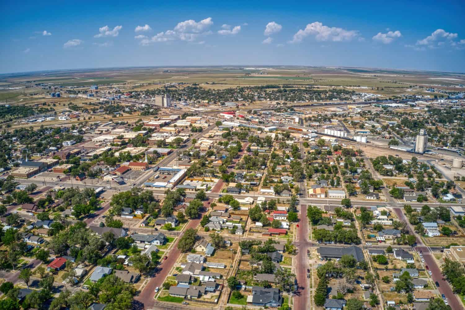
M 350 41 L 359 35 L 357 30 L 345 30 L 339 27 L 324 26 L 319 21 L 308 24 L 305 29 L 300 29 L 294 34 L 291 43 L 301 42 L 305 37 L 315 35 L 318 41 Z

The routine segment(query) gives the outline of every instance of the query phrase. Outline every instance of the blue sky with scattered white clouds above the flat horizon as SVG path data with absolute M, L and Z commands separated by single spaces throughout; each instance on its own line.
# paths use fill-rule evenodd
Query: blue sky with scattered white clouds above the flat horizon
M 186 65 L 465 72 L 463 1 L 70 2 L 2 1 L 0 73 Z

